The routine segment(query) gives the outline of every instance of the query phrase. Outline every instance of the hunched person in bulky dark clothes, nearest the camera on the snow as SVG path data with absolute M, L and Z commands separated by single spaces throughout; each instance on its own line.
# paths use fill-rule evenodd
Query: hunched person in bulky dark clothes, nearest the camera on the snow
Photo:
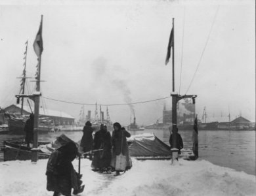
M 77 155 L 79 152 L 74 142 L 68 142 L 50 155 L 46 171 L 47 190 L 54 191 L 53 196 L 71 196 L 72 188 L 74 195 L 83 192 L 82 175 L 75 172 L 72 165 Z

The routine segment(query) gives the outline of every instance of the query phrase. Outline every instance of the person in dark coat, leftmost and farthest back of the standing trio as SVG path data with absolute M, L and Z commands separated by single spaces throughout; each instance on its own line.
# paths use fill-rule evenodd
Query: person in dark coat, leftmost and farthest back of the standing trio
M 91 122 L 87 121 L 85 127 L 83 127 L 83 137 L 81 139 L 81 148 L 83 152 L 89 152 L 93 150 L 93 127 L 91 127 Z M 85 157 L 87 154 L 85 154 Z M 89 159 L 92 159 L 92 154 L 89 154 Z

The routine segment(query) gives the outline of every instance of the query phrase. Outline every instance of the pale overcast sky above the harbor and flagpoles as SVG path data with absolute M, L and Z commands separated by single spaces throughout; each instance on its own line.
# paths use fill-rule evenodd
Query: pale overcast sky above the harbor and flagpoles
M 255 1 L 0 1 L 0 106 L 15 103 L 28 40 L 27 75 L 37 59 L 33 41 L 43 14 L 41 90 L 79 103 L 125 103 L 167 97 L 165 55 L 175 18 L 175 88 L 196 94 L 202 116 L 242 116 L 255 122 Z M 217 16 L 214 20 L 215 14 Z M 213 24 L 214 22 L 214 24 Z M 184 31 L 184 36 L 183 36 Z M 182 52 L 183 37 L 183 52 Z M 182 79 L 181 73 L 182 56 Z M 34 82 L 30 82 L 34 86 Z M 125 97 L 126 96 L 126 97 Z M 78 117 L 81 105 L 45 99 L 47 108 Z M 134 105 L 137 122 L 154 123 L 171 99 Z M 85 106 L 85 110 L 94 106 Z M 106 109 L 102 106 L 102 109 Z M 129 106 L 110 106 L 113 122 L 128 123 Z

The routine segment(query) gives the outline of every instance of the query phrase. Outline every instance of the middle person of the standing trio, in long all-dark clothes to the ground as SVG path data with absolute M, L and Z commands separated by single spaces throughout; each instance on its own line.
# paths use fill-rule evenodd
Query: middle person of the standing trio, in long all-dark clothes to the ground
M 93 156 L 91 167 L 94 171 L 109 172 L 111 170 L 111 148 L 110 132 L 108 132 L 107 127 L 102 124 L 100 125 L 100 130 L 95 133 L 94 150 L 100 151 L 96 151 Z

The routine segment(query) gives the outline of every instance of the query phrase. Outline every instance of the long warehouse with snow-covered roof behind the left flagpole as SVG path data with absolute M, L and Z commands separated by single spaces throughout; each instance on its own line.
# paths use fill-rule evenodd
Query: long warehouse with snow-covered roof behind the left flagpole
M 20 115 L 21 105 L 11 105 L 5 108 L 5 112 L 9 112 L 10 114 Z M 23 106 L 23 114 L 29 115 L 31 114 L 29 106 Z M 66 114 L 62 111 L 49 110 L 49 109 L 39 109 L 40 117 L 48 117 L 51 118 L 55 125 L 74 125 L 75 118 L 70 114 Z

